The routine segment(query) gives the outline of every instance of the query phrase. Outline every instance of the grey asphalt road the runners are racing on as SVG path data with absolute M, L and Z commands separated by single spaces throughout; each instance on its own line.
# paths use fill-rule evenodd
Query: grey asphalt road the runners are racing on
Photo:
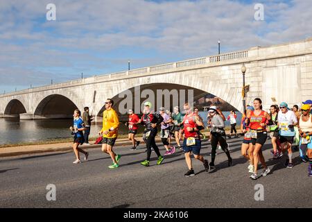
M 0 159 L 0 207 L 311 207 L 312 178 L 307 164 L 295 152 L 295 167 L 285 169 L 284 160 L 272 160 L 270 140 L 264 146 L 271 173 L 251 180 L 248 163 L 241 157 L 241 140 L 228 139 L 234 166 L 218 150 L 214 173 L 193 161 L 196 176 L 185 178 L 187 165 L 182 151 L 166 156 L 156 165 L 152 153 L 150 167 L 139 164 L 146 153 L 118 146 L 120 167 L 108 169 L 110 157 L 100 148 L 89 149 L 89 161 L 72 164 L 73 153 L 48 153 Z M 164 153 L 163 146 L 159 146 Z M 210 144 L 202 154 L 210 161 Z M 259 171 L 260 173 L 260 171 Z M 56 187 L 56 200 L 46 200 L 46 186 Z M 254 199 L 255 185 L 263 185 L 264 200 Z

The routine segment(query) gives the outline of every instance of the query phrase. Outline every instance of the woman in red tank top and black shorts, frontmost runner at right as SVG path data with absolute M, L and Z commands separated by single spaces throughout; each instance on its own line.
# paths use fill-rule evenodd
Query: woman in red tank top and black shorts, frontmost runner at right
M 248 110 L 245 123 L 250 126 L 250 137 L 252 138 L 253 153 L 254 156 L 254 173 L 250 176 L 252 180 L 257 180 L 258 175 L 258 163 L 259 160 L 263 167 L 261 176 L 267 176 L 270 173 L 270 169 L 266 166 L 266 162 L 263 157 L 261 148 L 266 142 L 266 121 L 270 120 L 268 112 L 262 110 L 262 101 L 259 98 L 254 99 L 254 110 Z

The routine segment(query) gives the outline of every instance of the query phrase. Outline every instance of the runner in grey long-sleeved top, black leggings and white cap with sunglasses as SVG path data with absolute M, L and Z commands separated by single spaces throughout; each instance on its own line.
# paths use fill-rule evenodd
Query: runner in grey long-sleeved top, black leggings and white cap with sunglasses
M 221 148 L 227 155 L 228 159 L 228 166 L 232 167 L 233 160 L 231 155 L 229 154 L 229 145 L 226 142 L 226 136 L 225 136 L 225 121 L 218 113 L 218 110 L 209 108 L 208 112 L 211 112 L 211 162 L 210 162 L 210 168 L 211 170 L 216 169 L 214 166 L 214 160 L 216 159 L 216 148 L 218 144 L 220 144 Z

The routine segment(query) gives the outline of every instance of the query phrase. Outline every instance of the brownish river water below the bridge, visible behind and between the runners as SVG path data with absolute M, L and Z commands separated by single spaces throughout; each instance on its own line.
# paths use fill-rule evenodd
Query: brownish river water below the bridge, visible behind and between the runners
M 225 117 L 229 112 L 223 112 Z M 200 112 L 200 116 L 207 123 L 207 112 Z M 237 113 L 236 121 L 241 121 L 241 113 Z M 225 124 L 229 126 L 229 121 Z M 69 126 L 73 125 L 71 119 L 45 119 L 45 120 L 19 120 L 19 119 L 3 119 L 0 118 L 0 144 L 18 144 L 23 142 L 40 142 L 49 139 L 70 138 Z M 102 124 L 92 124 L 91 137 L 96 137 Z M 139 128 L 139 133 L 144 130 Z M 127 134 L 128 128 L 124 124 L 119 126 L 119 134 Z

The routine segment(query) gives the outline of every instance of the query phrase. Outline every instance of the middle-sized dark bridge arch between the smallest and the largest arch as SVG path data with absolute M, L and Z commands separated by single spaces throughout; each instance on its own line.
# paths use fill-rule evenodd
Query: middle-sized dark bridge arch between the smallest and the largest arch
M 71 119 L 77 105 L 66 96 L 51 94 L 37 105 L 35 119 Z

